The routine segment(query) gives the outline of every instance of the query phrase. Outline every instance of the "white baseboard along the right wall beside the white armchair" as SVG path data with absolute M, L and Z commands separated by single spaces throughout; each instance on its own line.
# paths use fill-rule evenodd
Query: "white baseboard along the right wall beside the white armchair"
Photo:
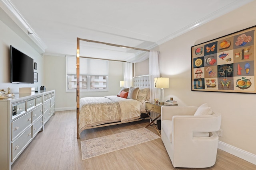
M 252 154 L 245 150 L 233 147 L 233 146 L 228 145 L 222 141 L 218 142 L 218 149 L 224 150 L 225 152 L 228 152 L 232 155 L 237 156 L 238 158 L 244 159 L 244 160 L 256 165 L 256 155 L 255 154 Z

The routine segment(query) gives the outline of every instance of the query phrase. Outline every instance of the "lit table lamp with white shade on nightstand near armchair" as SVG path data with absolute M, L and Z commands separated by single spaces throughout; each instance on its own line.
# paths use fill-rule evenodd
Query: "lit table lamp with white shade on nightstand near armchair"
M 169 78 L 167 77 L 155 77 L 155 88 L 159 90 L 159 104 L 164 104 L 164 88 L 169 88 Z

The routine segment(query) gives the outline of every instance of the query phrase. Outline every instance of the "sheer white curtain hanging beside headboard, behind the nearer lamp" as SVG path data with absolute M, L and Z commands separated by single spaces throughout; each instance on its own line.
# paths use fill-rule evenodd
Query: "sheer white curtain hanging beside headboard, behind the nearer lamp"
M 158 89 L 154 88 L 154 78 L 160 77 L 160 52 L 149 52 L 149 82 L 150 82 L 150 100 L 153 101 L 158 96 Z

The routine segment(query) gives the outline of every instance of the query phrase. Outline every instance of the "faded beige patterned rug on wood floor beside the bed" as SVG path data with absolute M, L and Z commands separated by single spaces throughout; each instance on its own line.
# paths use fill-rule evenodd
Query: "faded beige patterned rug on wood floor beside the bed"
M 81 141 L 82 160 L 160 138 L 145 127 Z

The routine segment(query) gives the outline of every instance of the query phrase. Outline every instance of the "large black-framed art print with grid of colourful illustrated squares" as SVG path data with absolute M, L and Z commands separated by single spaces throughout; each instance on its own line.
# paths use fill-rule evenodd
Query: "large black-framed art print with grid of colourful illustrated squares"
M 256 93 L 256 26 L 191 47 L 192 91 Z

